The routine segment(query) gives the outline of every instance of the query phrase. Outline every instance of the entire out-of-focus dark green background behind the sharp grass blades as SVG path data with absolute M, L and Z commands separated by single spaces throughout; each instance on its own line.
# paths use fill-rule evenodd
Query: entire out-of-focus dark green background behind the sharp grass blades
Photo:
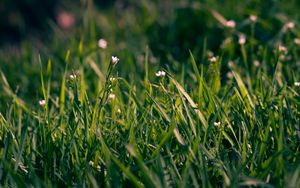
M 124 62 L 118 74 L 136 80 L 143 77 L 147 46 L 153 71 L 163 67 L 175 73 L 189 70 L 189 50 L 205 64 L 206 49 L 222 54 L 226 75 L 227 62 L 241 59 L 240 36 L 247 37 L 252 50 L 249 62 L 262 58 L 261 44 L 271 51 L 299 38 L 299 10 L 298 0 L 1 0 L 0 69 L 28 100 L 40 92 L 40 83 L 33 82 L 39 79 L 38 57 L 44 65 L 51 59 L 53 79 L 59 80 L 67 50 L 74 69 L 92 58 L 104 70 L 105 60 L 118 55 Z M 105 51 L 97 51 L 101 38 L 107 42 Z

